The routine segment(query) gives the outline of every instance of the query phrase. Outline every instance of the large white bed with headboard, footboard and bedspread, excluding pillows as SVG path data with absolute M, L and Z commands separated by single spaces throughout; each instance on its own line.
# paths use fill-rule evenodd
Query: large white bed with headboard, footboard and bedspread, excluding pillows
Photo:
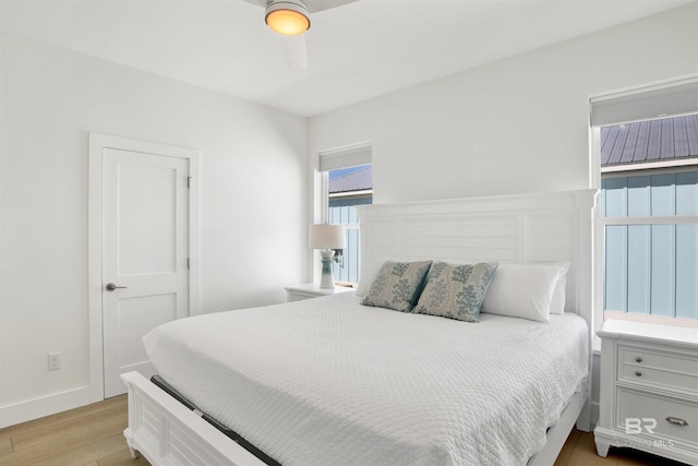
M 552 464 L 575 422 L 589 430 L 594 201 L 362 207 L 362 296 L 201 315 L 144 339 L 166 390 L 123 375 L 129 446 L 158 465 Z M 474 323 L 363 306 L 386 261 L 565 264 L 565 312 Z

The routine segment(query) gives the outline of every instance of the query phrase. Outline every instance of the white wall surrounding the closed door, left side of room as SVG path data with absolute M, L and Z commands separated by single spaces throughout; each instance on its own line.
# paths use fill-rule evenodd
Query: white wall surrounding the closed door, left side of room
M 201 151 L 203 312 L 306 278 L 305 118 L 9 34 L 1 60 L 0 427 L 87 401 L 91 131 Z

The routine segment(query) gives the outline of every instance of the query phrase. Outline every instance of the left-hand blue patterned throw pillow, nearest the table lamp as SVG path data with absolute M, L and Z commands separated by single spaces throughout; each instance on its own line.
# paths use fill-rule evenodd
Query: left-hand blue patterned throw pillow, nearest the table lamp
M 431 264 L 432 261 L 384 263 L 361 303 L 411 312 Z

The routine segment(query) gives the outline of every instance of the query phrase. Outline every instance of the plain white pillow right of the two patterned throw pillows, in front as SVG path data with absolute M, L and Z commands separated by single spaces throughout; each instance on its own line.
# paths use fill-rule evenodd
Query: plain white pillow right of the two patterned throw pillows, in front
M 550 320 L 555 286 L 563 275 L 557 265 L 500 264 L 482 302 L 482 312 Z

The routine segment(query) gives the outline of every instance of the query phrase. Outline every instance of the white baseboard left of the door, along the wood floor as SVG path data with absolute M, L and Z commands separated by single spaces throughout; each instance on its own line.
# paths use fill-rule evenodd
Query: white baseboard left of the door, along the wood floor
M 80 386 L 39 398 L 0 406 L 0 429 L 43 418 L 92 403 L 89 386 Z

